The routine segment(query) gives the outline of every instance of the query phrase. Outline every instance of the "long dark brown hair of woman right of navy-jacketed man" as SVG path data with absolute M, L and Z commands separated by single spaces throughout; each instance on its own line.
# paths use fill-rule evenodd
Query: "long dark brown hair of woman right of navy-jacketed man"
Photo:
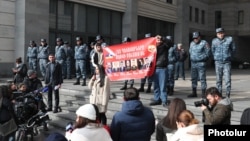
M 186 110 L 185 101 L 180 98 L 173 99 L 170 102 L 167 115 L 163 118 L 163 125 L 170 129 L 177 129 L 176 119 L 183 110 Z

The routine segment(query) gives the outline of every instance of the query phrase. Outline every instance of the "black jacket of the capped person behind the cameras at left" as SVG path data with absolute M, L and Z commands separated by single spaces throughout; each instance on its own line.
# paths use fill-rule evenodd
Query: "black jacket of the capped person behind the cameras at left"
M 33 92 L 43 87 L 41 80 L 39 80 L 38 78 L 30 79 L 28 77 L 25 77 L 23 83 L 27 86 L 27 93 Z

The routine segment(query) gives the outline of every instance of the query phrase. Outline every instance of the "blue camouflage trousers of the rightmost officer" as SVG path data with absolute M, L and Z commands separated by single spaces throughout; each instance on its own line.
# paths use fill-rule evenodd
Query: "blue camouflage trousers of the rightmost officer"
M 231 91 L 231 62 L 215 61 L 216 85 L 220 93 L 222 93 L 222 77 L 224 75 L 226 94 Z

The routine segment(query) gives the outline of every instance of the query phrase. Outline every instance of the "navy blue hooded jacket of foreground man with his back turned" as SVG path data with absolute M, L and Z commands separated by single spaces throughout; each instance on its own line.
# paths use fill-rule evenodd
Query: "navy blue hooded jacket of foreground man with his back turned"
M 155 130 L 152 111 L 139 100 L 125 101 L 110 126 L 113 141 L 150 141 Z

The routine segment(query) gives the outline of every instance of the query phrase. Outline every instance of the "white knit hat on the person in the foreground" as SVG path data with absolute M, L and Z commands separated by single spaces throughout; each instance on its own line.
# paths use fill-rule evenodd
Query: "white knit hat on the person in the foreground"
M 85 104 L 76 110 L 76 114 L 90 120 L 96 120 L 96 110 L 92 104 Z

